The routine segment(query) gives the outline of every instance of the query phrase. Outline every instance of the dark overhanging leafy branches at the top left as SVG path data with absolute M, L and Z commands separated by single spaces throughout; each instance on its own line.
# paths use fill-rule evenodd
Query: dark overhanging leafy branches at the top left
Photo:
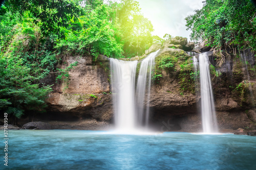
M 61 38 L 64 37 L 61 27 L 67 27 L 70 18 L 76 21 L 80 13 L 78 1 L 69 0 L 8 0 L 6 5 L 20 14 L 29 11 L 44 36 L 57 33 Z

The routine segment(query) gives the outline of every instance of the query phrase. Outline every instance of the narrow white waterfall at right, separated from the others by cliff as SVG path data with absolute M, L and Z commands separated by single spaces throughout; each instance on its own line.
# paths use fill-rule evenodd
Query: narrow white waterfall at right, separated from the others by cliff
M 201 113 L 204 133 L 217 133 L 218 125 L 212 94 L 209 59 L 207 53 L 199 55 Z

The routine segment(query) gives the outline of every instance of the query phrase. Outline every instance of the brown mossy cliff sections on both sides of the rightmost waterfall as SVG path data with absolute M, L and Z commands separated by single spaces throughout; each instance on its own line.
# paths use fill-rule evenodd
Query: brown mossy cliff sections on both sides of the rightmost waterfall
M 166 56 L 177 58 L 183 55 L 182 50 L 167 46 L 164 45 L 156 61 Z M 211 79 L 220 130 L 253 129 L 256 122 L 253 102 L 253 96 L 256 96 L 255 77 L 251 74 L 250 81 L 246 81 L 248 79 L 245 77 L 247 74 L 245 66 L 237 58 L 232 61 L 227 60 L 221 66 L 217 65 L 218 59 L 215 58 L 213 52 L 209 53 L 210 62 L 215 66 L 211 68 Z M 186 61 L 182 60 L 178 57 L 173 69 L 162 69 L 158 72 L 162 77 L 151 89 L 150 106 L 153 113 L 151 122 L 159 129 L 164 127 L 166 131 L 202 131 L 201 97 L 191 90 L 193 88 L 189 88 L 189 84 L 195 82 L 191 81 L 189 76 L 184 76 L 193 72 L 193 67 L 189 67 L 191 56 Z M 186 69 L 181 67 L 185 64 Z M 184 90 L 184 87 L 187 88 Z M 251 94 L 250 91 L 253 93 Z M 166 127 L 166 125 L 172 126 Z

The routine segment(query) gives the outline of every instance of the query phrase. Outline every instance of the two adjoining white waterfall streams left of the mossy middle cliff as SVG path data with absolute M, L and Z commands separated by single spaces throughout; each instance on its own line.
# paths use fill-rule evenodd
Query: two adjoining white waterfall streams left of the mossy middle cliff
M 151 74 L 158 52 L 159 50 L 151 53 L 141 62 L 136 98 L 135 76 L 138 61 L 110 59 L 116 130 L 132 132 L 148 126 Z

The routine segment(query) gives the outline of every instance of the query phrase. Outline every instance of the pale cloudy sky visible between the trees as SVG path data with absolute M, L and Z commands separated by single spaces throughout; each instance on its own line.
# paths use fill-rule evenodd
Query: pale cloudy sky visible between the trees
M 189 40 L 190 31 L 186 30 L 185 17 L 201 9 L 203 0 L 136 0 L 141 12 L 154 27 L 152 35 L 163 38 L 164 34 L 182 36 Z

